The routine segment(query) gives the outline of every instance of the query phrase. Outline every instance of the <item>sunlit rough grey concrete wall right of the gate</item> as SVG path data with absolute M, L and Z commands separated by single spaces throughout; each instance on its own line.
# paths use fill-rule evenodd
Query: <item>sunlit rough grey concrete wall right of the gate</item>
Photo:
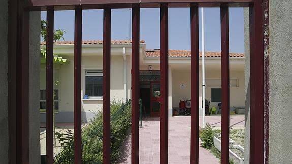
M 292 163 L 292 1 L 269 3 L 269 163 Z

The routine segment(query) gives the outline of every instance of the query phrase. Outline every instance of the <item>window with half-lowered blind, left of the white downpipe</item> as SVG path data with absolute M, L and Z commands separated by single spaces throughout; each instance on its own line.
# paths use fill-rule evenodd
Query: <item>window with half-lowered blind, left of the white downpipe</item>
M 98 70 L 85 71 L 85 94 L 88 97 L 103 96 L 103 72 Z

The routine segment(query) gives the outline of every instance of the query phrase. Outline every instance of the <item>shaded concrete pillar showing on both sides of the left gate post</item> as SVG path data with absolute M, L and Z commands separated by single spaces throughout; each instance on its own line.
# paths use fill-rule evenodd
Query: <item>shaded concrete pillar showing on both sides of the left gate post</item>
M 40 12 L 30 15 L 29 163 L 40 163 L 39 56 Z M 36 73 L 37 72 L 37 73 Z M 8 134 L 8 1 L 0 2 L 0 163 L 9 163 Z M 36 96 L 37 95 L 37 96 Z

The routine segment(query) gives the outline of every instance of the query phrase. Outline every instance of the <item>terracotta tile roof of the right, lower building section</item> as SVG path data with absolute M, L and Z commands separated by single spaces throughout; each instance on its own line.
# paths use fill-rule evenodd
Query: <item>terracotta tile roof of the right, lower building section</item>
M 169 57 L 190 57 L 190 51 L 188 50 L 169 50 Z M 202 57 L 202 52 L 199 52 L 200 57 Z M 160 49 L 146 50 L 146 57 L 159 57 Z M 230 53 L 230 57 L 244 57 L 244 53 Z M 205 57 L 221 57 L 220 52 L 205 51 Z

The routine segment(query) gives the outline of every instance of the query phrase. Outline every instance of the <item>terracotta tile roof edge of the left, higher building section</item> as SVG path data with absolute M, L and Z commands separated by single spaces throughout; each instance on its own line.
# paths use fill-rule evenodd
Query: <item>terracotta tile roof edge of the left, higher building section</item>
M 127 44 L 132 43 L 132 40 L 112 40 L 112 44 Z M 140 43 L 145 43 L 144 40 L 141 40 Z M 74 44 L 74 41 L 56 41 L 55 45 L 71 45 Z M 82 44 L 103 44 L 102 40 L 88 40 L 82 41 Z M 46 45 L 46 42 L 41 42 L 41 45 Z

